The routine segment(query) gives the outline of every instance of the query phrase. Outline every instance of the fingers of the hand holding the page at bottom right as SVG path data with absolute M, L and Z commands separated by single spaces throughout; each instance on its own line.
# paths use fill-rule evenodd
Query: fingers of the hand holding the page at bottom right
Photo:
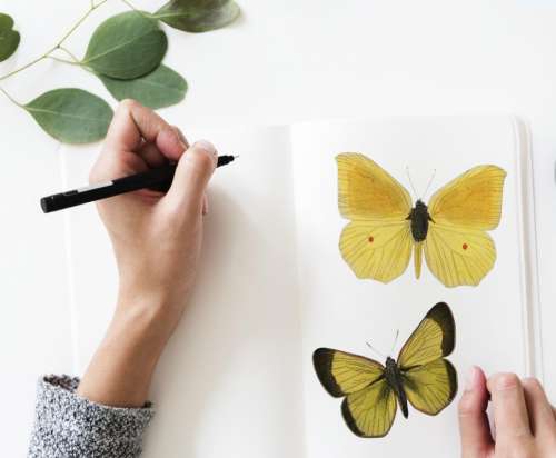
M 489 398 L 494 431 L 486 414 Z M 458 410 L 463 458 L 556 457 L 555 410 L 534 378 L 496 374 L 487 380 L 473 367 Z

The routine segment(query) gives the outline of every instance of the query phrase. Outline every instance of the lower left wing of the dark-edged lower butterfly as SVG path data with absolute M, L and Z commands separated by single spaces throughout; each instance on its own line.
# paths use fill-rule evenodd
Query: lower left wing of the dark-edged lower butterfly
M 348 395 L 341 404 L 347 426 L 359 437 L 386 436 L 394 424 L 396 410 L 396 395 L 386 379 Z

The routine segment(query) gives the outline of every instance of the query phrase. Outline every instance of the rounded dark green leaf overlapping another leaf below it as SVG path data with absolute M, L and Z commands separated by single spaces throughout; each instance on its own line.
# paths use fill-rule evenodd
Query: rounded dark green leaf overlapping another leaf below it
M 110 78 L 129 80 L 155 70 L 168 49 L 166 33 L 148 13 L 128 11 L 102 22 L 81 64 Z

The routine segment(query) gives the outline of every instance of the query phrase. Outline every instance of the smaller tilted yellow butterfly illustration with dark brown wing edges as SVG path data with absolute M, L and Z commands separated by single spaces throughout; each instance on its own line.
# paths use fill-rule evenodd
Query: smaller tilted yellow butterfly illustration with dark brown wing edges
M 425 316 L 401 348 L 398 360 L 386 366 L 363 356 L 330 348 L 312 355 L 317 376 L 334 397 L 345 397 L 341 414 L 359 437 L 384 437 L 396 417 L 405 418 L 407 402 L 427 415 L 437 415 L 457 392 L 457 372 L 444 359 L 454 350 L 456 327 L 449 307 L 439 302 Z

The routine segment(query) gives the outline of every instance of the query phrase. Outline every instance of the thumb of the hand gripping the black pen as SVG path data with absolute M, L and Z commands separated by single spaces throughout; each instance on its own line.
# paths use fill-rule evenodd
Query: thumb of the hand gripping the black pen
M 173 181 L 165 200 L 181 211 L 202 211 L 205 189 L 217 165 L 212 143 L 199 140 L 179 159 Z

